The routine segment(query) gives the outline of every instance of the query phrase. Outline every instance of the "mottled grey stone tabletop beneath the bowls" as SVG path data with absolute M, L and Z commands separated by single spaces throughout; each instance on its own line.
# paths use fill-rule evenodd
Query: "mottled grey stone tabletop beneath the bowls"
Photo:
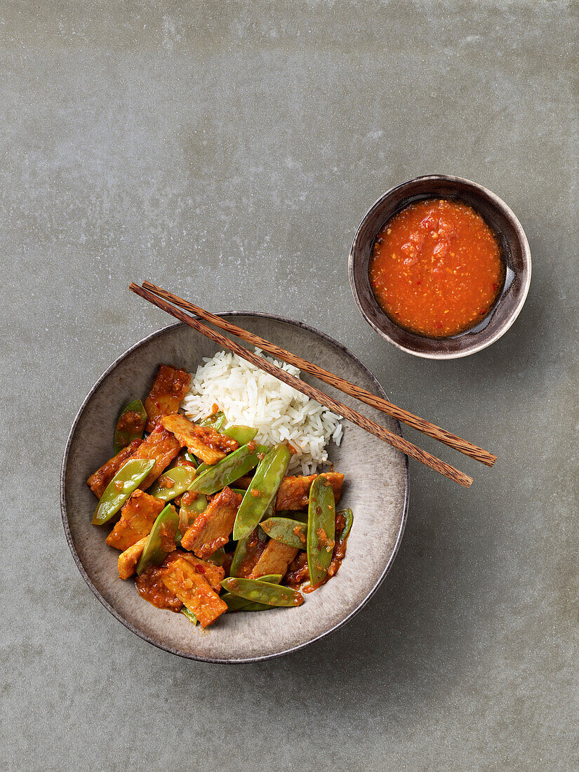
M 578 15 L 2 2 L 4 769 L 577 769 Z M 430 171 L 496 191 L 533 252 L 520 319 L 466 360 L 388 347 L 347 283 L 368 206 Z M 103 369 L 166 322 L 127 292 L 144 278 L 305 320 L 499 455 L 442 452 L 469 491 L 413 464 L 387 581 L 297 655 L 158 651 L 69 554 L 63 445 Z

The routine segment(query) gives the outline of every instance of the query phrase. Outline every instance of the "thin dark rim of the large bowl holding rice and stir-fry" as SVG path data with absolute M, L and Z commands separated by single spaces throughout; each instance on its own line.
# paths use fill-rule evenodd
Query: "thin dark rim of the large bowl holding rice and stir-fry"
M 384 398 L 387 398 L 387 394 L 385 393 L 384 389 L 382 388 L 381 384 L 379 383 L 378 379 L 374 376 L 374 374 L 369 370 L 366 365 L 358 359 L 358 357 L 353 354 L 350 349 L 345 347 L 343 344 L 340 344 L 337 340 L 335 340 L 330 335 L 327 335 L 326 333 L 321 332 L 320 330 L 317 330 L 315 327 L 311 327 L 309 324 L 306 324 L 304 322 L 300 322 L 298 320 L 288 319 L 286 317 L 279 317 L 276 314 L 272 313 L 260 313 L 260 312 L 253 312 L 253 311 L 225 311 L 221 313 L 216 313 L 216 316 L 218 317 L 232 317 L 232 316 L 240 316 L 240 317 L 260 317 L 262 319 L 269 319 L 274 320 L 278 322 L 284 322 L 293 324 L 295 327 L 300 327 L 303 330 L 308 330 L 309 332 L 319 335 L 324 340 L 327 340 L 328 343 L 333 344 L 334 346 L 337 346 L 344 354 L 347 354 L 348 357 L 351 357 L 351 359 L 354 360 L 354 362 L 359 366 L 362 367 L 364 371 L 371 377 L 371 380 L 374 381 L 374 385 L 376 388 L 378 388 L 378 391 L 380 395 Z M 325 638 L 327 635 L 330 635 L 330 633 L 335 632 L 339 628 L 341 628 L 343 625 L 345 625 L 350 619 L 354 617 L 358 613 L 358 611 L 361 611 L 362 608 L 367 604 L 368 601 L 373 597 L 373 595 L 378 591 L 378 587 L 382 584 L 384 581 L 386 575 L 388 574 L 388 571 L 390 571 L 392 564 L 394 563 L 394 559 L 396 555 L 398 554 L 398 549 L 401 544 L 402 537 L 404 536 L 405 532 L 405 526 L 406 526 L 406 520 L 408 517 L 408 501 L 410 496 L 410 480 L 409 480 L 409 473 L 408 473 L 408 456 L 405 455 L 405 496 L 404 496 L 404 508 L 402 511 L 402 518 L 400 527 L 398 529 L 398 534 L 396 536 L 396 540 L 394 543 L 394 548 L 391 552 L 390 557 L 388 558 L 387 564 L 384 566 L 384 571 L 382 571 L 381 576 L 378 577 L 378 581 L 376 584 L 374 584 L 374 587 L 372 587 L 371 591 L 367 594 L 367 596 L 364 598 L 363 601 L 361 601 L 360 604 L 357 605 L 356 608 L 354 608 L 354 611 L 351 611 L 349 615 L 347 615 L 346 618 L 344 618 L 342 621 L 338 622 L 337 625 L 334 625 L 330 629 L 323 631 L 320 633 L 320 635 L 316 635 L 315 638 L 312 638 L 310 641 L 306 641 L 304 643 L 300 643 L 296 646 L 291 646 L 290 648 L 286 648 L 283 652 L 276 652 L 275 654 L 266 654 L 262 656 L 256 656 L 256 657 L 247 657 L 244 659 L 215 659 L 212 657 L 205 657 L 200 655 L 193 655 L 189 652 L 183 652 L 178 648 L 174 648 L 169 645 L 164 645 L 162 642 L 154 640 L 154 638 L 151 638 L 150 635 L 147 635 L 144 631 L 142 631 L 140 628 L 133 625 L 130 621 L 125 619 L 123 615 L 121 615 L 113 606 L 103 598 L 103 595 L 100 593 L 99 590 L 97 590 L 97 587 L 93 584 L 92 581 L 90 581 L 89 575 L 86 573 L 83 563 L 80 560 L 80 557 L 78 553 L 76 552 L 76 547 L 73 543 L 73 537 L 70 533 L 69 528 L 69 522 L 68 522 L 68 515 L 66 513 L 66 496 L 65 496 L 65 484 L 66 484 L 66 466 L 68 462 L 69 457 L 69 450 L 70 445 L 73 440 L 74 433 L 76 432 L 76 426 L 78 425 L 78 422 L 80 421 L 81 416 L 83 415 L 83 412 L 86 408 L 86 405 L 88 405 L 90 399 L 93 397 L 93 394 L 95 391 L 97 391 L 97 388 L 100 386 L 102 381 L 107 378 L 107 376 L 117 367 L 117 364 L 119 364 L 121 361 L 123 361 L 129 354 L 131 354 L 134 350 L 137 348 L 140 348 L 141 346 L 144 346 L 144 344 L 147 344 L 149 340 L 152 340 L 153 338 L 164 334 L 168 330 L 173 329 L 174 327 L 185 327 L 186 325 L 182 322 L 176 322 L 168 324 L 166 327 L 161 327 L 160 330 L 155 330 L 153 333 L 148 334 L 144 338 L 141 338 L 141 340 L 137 340 L 137 343 L 133 344 L 132 346 L 128 347 L 120 356 L 118 356 L 112 364 L 107 367 L 107 369 L 103 372 L 102 375 L 100 375 L 100 378 L 95 381 L 93 386 L 90 388 L 90 391 L 88 394 L 86 394 L 86 397 L 83 399 L 82 404 L 80 405 L 79 410 L 76 413 L 76 416 L 73 420 L 73 424 L 70 427 L 69 435 L 66 438 L 66 445 L 64 449 L 63 454 L 63 462 L 60 468 L 60 512 L 63 520 L 63 527 L 64 532 L 66 534 L 66 541 L 69 545 L 69 550 L 71 554 L 73 555 L 74 562 L 76 563 L 76 567 L 80 571 L 81 576 L 83 577 L 84 581 L 86 581 L 86 584 L 90 587 L 91 591 L 93 591 L 93 594 L 97 598 L 98 601 L 100 601 L 101 604 L 103 604 L 104 608 L 107 609 L 107 611 L 110 612 L 111 615 L 117 621 L 120 621 L 121 624 L 123 624 L 128 630 L 133 632 L 135 635 L 137 635 L 139 638 L 142 638 L 147 643 L 150 643 L 157 648 L 160 648 L 161 650 L 165 652 L 169 652 L 170 654 L 174 654 L 179 657 L 183 657 L 184 659 L 192 659 L 197 662 L 210 662 L 215 663 L 218 665 L 242 665 L 242 664 L 248 664 L 251 662 L 262 662 L 266 659 L 277 659 L 278 657 L 283 657 L 288 654 L 292 654 L 293 652 L 299 651 L 301 648 L 305 648 L 306 646 L 309 646 L 310 644 L 319 641 L 321 638 Z M 401 435 L 401 425 L 398 420 L 395 418 L 393 419 L 396 422 L 396 427 L 398 430 L 398 433 Z

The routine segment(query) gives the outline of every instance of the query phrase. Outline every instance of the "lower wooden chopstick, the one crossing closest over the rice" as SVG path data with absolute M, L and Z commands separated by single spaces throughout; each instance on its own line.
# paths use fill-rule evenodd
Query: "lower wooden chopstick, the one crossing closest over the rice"
M 222 348 L 228 349 L 229 351 L 232 351 L 233 354 L 237 354 L 239 357 L 242 357 L 242 359 L 255 364 L 256 367 L 259 367 L 261 370 L 264 370 L 273 375 L 274 378 L 277 378 L 279 381 L 283 381 L 289 386 L 295 388 L 297 391 L 301 391 L 303 394 L 306 394 L 306 397 L 310 397 L 311 399 L 316 400 L 320 403 L 320 405 L 325 405 L 327 408 L 330 408 L 330 410 L 334 411 L 338 415 L 342 415 L 344 418 L 347 418 L 348 421 L 356 424 L 357 426 L 360 426 L 371 435 L 374 435 L 374 437 L 378 437 L 379 439 L 384 440 L 384 442 L 388 442 L 394 448 L 401 450 L 401 452 L 405 453 L 406 455 L 410 455 L 413 459 L 416 459 L 417 461 L 425 464 L 425 466 L 430 467 L 430 469 L 434 469 L 435 472 L 439 472 L 445 477 L 458 482 L 459 485 L 462 485 L 465 488 L 469 488 L 472 485 L 472 477 L 469 477 L 464 472 L 461 472 L 459 469 L 455 469 L 454 466 L 450 466 L 450 464 L 441 461 L 441 459 L 437 459 L 435 455 L 432 455 L 431 453 L 418 448 L 416 445 L 408 442 L 408 440 L 405 440 L 403 437 L 394 434 L 394 432 L 388 431 L 388 429 L 384 428 L 384 426 L 380 426 L 379 424 L 374 423 L 374 421 L 371 421 L 370 418 L 366 418 L 365 415 L 361 415 L 361 413 L 357 413 L 355 410 L 352 410 L 352 408 L 348 408 L 347 405 L 344 405 L 344 403 L 337 401 L 333 397 L 330 397 L 328 394 L 324 394 L 324 392 L 320 391 L 320 389 L 310 386 L 310 384 L 306 384 L 305 381 L 300 381 L 300 378 L 296 378 L 294 375 L 286 373 L 285 370 L 282 370 L 280 367 L 276 367 L 275 364 L 272 364 L 263 357 L 259 357 L 257 354 L 254 354 L 252 351 L 249 351 L 238 343 L 235 343 L 235 340 L 230 340 L 228 337 L 225 337 L 225 335 L 222 335 L 217 330 L 212 330 L 211 327 L 207 327 L 206 324 L 200 322 L 194 317 L 189 316 L 189 314 L 185 313 L 184 310 L 181 310 L 175 306 L 171 306 L 170 303 L 168 303 L 166 300 L 163 300 L 161 297 L 154 295 L 154 293 L 152 293 L 150 290 L 144 289 L 143 287 L 134 283 L 130 284 L 129 289 L 131 289 L 136 295 L 144 298 L 144 300 L 148 300 L 149 303 L 157 306 L 157 308 L 160 308 L 161 310 L 171 314 L 171 317 L 174 317 L 175 319 L 188 324 L 189 327 L 193 327 L 194 330 L 197 330 L 202 335 L 210 338 Z

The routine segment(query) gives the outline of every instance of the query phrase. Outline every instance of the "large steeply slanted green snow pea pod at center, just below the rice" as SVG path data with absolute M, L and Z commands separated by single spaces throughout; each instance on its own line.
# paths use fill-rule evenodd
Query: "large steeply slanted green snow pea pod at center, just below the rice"
M 291 453 L 287 445 L 274 445 L 259 462 L 253 482 L 245 491 L 233 526 L 233 539 L 243 539 L 262 519 L 276 496 L 289 464 Z

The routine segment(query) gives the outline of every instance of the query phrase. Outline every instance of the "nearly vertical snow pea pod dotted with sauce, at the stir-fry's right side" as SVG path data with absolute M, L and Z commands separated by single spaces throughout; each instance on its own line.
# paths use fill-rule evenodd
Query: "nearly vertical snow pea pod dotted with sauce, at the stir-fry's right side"
M 334 553 L 335 533 L 334 491 L 324 477 L 317 477 L 310 488 L 307 514 L 307 565 L 312 587 L 316 587 L 326 578 Z

